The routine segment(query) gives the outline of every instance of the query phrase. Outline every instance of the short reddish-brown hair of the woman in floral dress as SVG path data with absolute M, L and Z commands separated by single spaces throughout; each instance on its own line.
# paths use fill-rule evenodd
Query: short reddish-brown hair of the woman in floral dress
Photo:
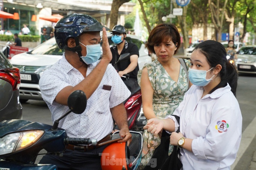
M 150 32 L 148 42 L 145 46 L 151 53 L 155 54 L 154 45 L 162 42 L 168 42 L 170 39 L 175 45 L 177 43 L 177 49 L 174 52 L 174 54 L 176 54 L 181 45 L 181 36 L 177 27 L 174 24 L 159 24 Z

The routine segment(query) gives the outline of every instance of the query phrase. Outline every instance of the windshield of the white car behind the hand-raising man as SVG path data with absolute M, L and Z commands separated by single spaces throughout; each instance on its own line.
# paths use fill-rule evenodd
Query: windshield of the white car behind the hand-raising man
M 27 53 L 62 56 L 62 54 L 64 53 L 64 49 L 58 48 L 55 38 L 53 37 Z

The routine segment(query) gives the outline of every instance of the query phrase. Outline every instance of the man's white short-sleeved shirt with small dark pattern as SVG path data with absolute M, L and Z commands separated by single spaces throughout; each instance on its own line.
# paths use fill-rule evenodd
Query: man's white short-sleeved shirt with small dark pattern
M 99 61 L 89 64 L 88 76 Z M 58 60 L 51 68 L 44 71 L 39 80 L 42 97 L 52 112 L 53 122 L 69 109 L 68 106 L 54 101 L 58 92 L 67 86 L 75 86 L 84 79 L 65 58 Z M 103 90 L 103 85 L 110 85 L 111 90 Z M 71 112 L 60 120 L 58 127 L 66 130 L 71 138 L 90 138 L 98 141 L 107 136 L 113 129 L 113 119 L 110 108 L 117 106 L 130 96 L 130 91 L 111 64 L 92 96 L 87 99 L 86 109 L 82 114 Z

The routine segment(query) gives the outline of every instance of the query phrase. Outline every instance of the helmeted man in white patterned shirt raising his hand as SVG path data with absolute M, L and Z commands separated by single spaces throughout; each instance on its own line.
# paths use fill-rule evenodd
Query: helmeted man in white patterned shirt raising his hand
M 100 31 L 102 36 L 102 59 Z M 62 59 L 44 71 L 39 86 L 42 97 L 52 112 L 52 120 L 67 110 L 67 98 L 75 90 L 82 90 L 87 106 L 82 114 L 70 113 L 62 119 L 59 128 L 70 138 L 97 139 L 98 144 L 110 140 L 113 119 L 120 127 L 118 142 L 131 140 L 123 101 L 130 91 L 111 66 L 112 59 L 106 30 L 95 18 L 74 13 L 60 19 L 55 25 L 55 40 L 65 49 Z M 39 163 L 56 164 L 58 169 L 101 169 L 100 153 L 104 146 L 68 145 L 63 157 L 47 154 Z

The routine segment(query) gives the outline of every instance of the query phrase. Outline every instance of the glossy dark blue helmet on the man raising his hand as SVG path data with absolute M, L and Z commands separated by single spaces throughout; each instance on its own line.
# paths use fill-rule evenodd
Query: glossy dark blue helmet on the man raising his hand
M 82 14 L 82 13 L 73 13 L 68 16 L 60 19 L 54 30 L 55 40 L 59 49 L 65 49 L 73 52 L 77 52 L 79 57 L 82 56 L 82 49 L 79 44 L 79 36 L 83 32 L 89 31 L 102 31 L 104 26 L 101 25 L 95 18 L 92 16 Z M 109 28 L 106 28 L 107 31 L 110 31 Z M 74 38 L 76 42 L 76 47 L 69 48 L 67 47 L 67 40 L 69 38 Z

